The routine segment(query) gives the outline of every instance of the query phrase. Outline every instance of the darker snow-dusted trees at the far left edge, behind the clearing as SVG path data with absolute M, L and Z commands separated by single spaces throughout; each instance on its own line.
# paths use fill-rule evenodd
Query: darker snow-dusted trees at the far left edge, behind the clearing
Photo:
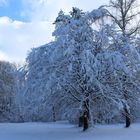
M 16 68 L 9 62 L 0 61 L 0 121 L 14 121 L 17 93 Z

